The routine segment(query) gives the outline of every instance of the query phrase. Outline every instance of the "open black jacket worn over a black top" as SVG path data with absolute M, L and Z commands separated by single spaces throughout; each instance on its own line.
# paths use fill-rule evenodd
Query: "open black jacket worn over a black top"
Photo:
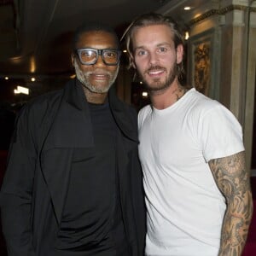
M 145 208 L 137 155 L 137 114 L 108 93 L 122 137 L 117 143 L 119 193 L 131 255 L 143 255 Z M 55 247 L 73 150 L 92 144 L 89 108 L 71 80 L 63 90 L 26 104 L 17 119 L 0 194 L 3 235 L 10 256 L 45 256 Z M 85 114 L 84 114 L 85 113 Z

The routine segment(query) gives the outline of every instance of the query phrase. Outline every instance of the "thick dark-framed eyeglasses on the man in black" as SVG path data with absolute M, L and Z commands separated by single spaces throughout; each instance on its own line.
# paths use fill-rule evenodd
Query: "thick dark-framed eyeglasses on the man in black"
M 115 66 L 119 63 L 121 51 L 119 49 L 94 49 L 81 48 L 75 50 L 79 56 L 79 61 L 83 65 L 94 65 L 98 60 L 99 55 L 102 56 L 102 61 L 108 66 Z

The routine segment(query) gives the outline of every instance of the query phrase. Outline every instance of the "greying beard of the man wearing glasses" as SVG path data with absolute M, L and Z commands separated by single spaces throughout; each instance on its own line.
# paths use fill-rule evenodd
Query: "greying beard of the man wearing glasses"
M 119 66 L 116 69 L 116 71 L 114 73 L 111 73 L 109 71 L 104 71 L 104 74 L 108 75 L 109 80 L 108 80 L 108 84 L 105 86 L 96 86 L 90 83 L 90 74 L 92 72 L 87 71 L 84 72 L 80 69 L 79 64 L 77 62 L 77 60 L 74 60 L 74 68 L 75 68 L 75 73 L 77 76 L 77 79 L 79 80 L 79 82 L 81 84 L 84 85 L 85 88 L 87 88 L 88 90 L 90 90 L 90 92 L 94 92 L 94 93 L 106 93 L 108 92 L 108 90 L 110 89 L 111 85 L 114 83 L 115 79 L 117 78 L 117 75 L 119 73 Z

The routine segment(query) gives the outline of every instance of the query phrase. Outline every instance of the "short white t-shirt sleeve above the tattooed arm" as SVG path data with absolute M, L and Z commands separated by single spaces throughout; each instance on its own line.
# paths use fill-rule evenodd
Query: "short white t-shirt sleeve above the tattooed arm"
M 234 114 L 220 104 L 203 114 L 198 132 L 207 162 L 244 150 L 241 125 Z

